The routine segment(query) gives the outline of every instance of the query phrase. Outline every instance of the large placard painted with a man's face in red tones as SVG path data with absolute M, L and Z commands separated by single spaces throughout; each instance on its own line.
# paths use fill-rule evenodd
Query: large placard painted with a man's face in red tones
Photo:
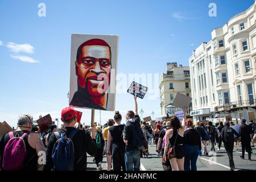
M 117 35 L 71 35 L 69 105 L 115 110 Z

